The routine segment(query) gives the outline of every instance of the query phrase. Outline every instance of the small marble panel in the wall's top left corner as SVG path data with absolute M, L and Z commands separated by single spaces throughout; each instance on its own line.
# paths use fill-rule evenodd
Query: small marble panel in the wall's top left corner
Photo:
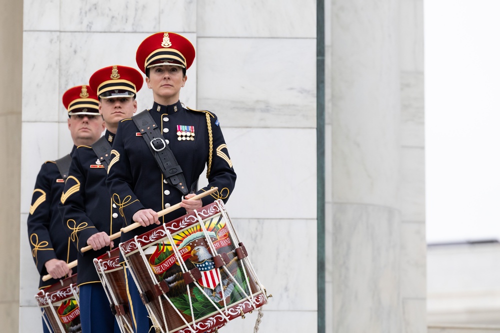
M 23 31 L 59 30 L 60 0 L 23 0 Z M 23 331 L 20 331 L 23 332 Z

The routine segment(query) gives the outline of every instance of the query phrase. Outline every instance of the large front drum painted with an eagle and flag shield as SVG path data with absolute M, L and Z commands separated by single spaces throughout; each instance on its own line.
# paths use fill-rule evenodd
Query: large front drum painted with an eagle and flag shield
M 221 200 L 119 248 L 159 332 L 215 332 L 267 303 Z

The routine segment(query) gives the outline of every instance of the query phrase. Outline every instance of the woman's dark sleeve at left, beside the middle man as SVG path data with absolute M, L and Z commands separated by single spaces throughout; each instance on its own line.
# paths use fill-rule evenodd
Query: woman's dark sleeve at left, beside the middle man
M 121 121 L 118 124 L 106 178 L 109 195 L 118 207 L 125 226 L 133 223 L 132 216 L 135 212 L 144 209 L 132 190 L 132 172 L 124 144 L 126 133 L 130 130 L 130 126 L 126 124 L 127 121 L 131 120 Z

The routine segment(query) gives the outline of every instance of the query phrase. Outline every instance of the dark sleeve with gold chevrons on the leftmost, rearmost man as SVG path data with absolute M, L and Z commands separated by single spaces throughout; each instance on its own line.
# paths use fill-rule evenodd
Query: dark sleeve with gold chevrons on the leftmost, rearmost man
M 55 251 L 50 240 L 50 203 L 52 202 L 51 188 L 55 179 L 50 177 L 47 162 L 41 166 L 40 172 L 36 177 L 33 194 L 31 196 L 31 205 L 27 218 L 27 231 L 31 255 L 40 275 L 47 274 L 45 263 L 50 259 L 56 259 Z M 53 182 L 52 182 L 53 181 Z

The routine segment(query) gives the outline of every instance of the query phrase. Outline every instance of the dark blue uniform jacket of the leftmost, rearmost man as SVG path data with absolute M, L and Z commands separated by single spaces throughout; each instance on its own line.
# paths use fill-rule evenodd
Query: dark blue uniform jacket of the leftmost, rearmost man
M 76 147 L 73 146 L 73 150 Z M 61 228 L 61 216 L 57 204 L 64 188 L 59 169 L 54 161 L 46 161 L 38 172 L 31 197 L 31 206 L 27 219 L 27 230 L 31 255 L 40 273 L 38 287 L 48 287 L 57 282 L 55 279 L 41 281 L 48 274 L 45 263 L 51 259 L 70 263 L 76 259 L 76 249 L 64 229 Z M 73 274 L 76 269 L 72 270 Z

